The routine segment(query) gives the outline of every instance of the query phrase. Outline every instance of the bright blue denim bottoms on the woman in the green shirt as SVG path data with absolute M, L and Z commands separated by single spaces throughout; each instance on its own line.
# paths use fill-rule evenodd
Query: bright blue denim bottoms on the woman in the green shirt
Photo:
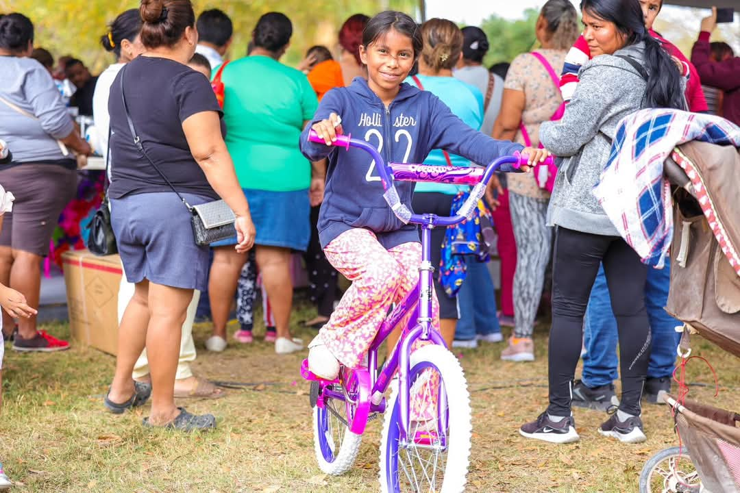
M 243 188 L 252 222 L 257 229 L 255 245 L 306 251 L 311 239 L 309 191 L 266 191 Z M 211 246 L 236 245 L 236 237 Z

